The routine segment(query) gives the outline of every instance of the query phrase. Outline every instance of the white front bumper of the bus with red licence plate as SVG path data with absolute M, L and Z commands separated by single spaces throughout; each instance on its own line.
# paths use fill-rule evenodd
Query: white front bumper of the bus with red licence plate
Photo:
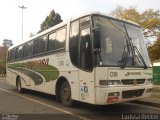
M 132 101 L 151 96 L 153 85 L 96 87 L 96 104 L 106 105 L 125 101 Z

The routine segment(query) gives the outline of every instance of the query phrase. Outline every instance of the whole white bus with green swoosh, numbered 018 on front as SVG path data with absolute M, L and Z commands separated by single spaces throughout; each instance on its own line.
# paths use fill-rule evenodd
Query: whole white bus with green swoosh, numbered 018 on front
M 145 98 L 152 66 L 139 25 L 101 13 L 60 23 L 8 50 L 7 81 L 19 92 L 56 95 L 64 105 Z

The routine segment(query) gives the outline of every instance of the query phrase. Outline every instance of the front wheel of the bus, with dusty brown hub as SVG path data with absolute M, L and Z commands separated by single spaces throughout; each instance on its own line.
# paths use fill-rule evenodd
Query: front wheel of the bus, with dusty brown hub
M 68 107 L 73 106 L 73 100 L 71 99 L 71 88 L 67 81 L 64 81 L 60 87 L 60 100 Z

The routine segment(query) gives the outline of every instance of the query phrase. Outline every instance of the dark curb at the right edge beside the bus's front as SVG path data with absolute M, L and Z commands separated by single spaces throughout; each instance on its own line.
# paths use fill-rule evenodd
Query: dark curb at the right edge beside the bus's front
M 132 101 L 132 103 L 142 104 L 142 105 L 148 105 L 148 106 L 153 106 L 153 107 L 158 107 L 158 108 L 160 108 L 160 103 L 156 103 L 156 102 L 135 100 L 135 101 Z

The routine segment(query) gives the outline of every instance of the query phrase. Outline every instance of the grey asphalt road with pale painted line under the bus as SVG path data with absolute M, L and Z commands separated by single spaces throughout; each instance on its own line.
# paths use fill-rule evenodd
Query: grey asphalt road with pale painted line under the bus
M 69 108 L 54 96 L 26 91 L 17 92 L 0 80 L 0 120 L 160 120 L 160 108 L 135 103 L 95 106 L 77 103 Z

